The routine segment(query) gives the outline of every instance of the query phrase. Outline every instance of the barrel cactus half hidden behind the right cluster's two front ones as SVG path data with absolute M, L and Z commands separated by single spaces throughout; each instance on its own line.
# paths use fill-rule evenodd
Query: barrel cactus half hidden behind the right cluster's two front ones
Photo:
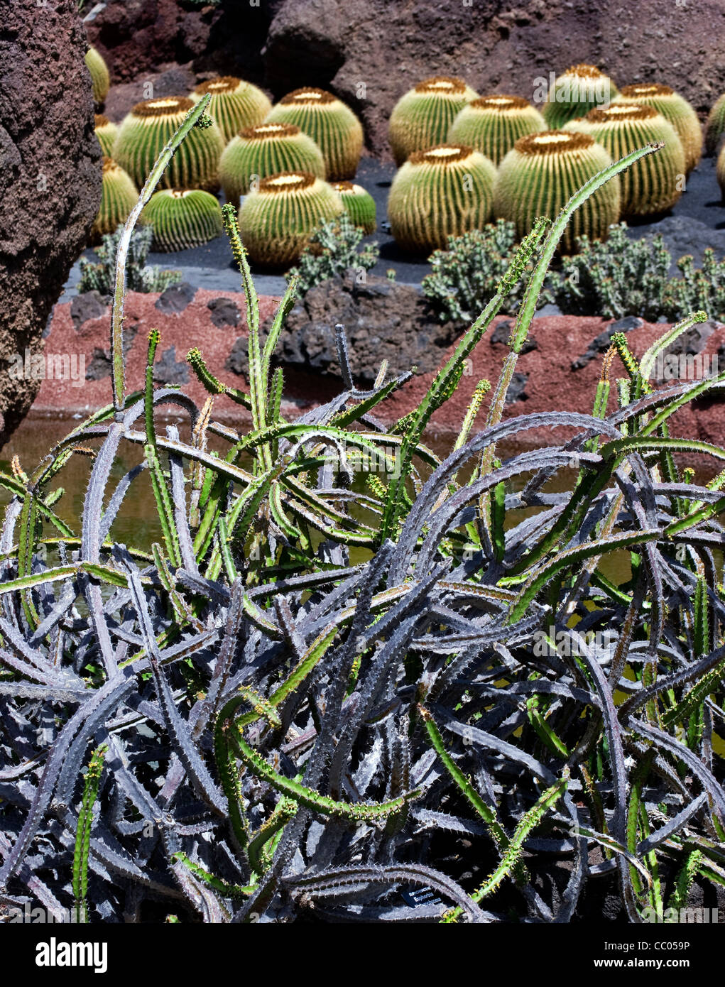
M 520 96 L 481 96 L 456 116 L 448 140 L 469 144 L 500 165 L 519 137 L 545 129 L 542 114 Z

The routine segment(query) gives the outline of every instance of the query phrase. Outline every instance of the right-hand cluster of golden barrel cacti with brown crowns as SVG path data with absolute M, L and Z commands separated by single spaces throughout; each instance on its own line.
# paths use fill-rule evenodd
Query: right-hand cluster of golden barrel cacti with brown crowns
M 702 145 L 697 114 L 679 93 L 649 82 L 618 90 L 599 68 L 582 63 L 549 80 L 534 98 L 541 108 L 521 96 L 479 97 L 465 80 L 439 76 L 399 99 L 389 129 L 399 165 L 389 212 L 403 250 L 439 246 L 440 235 L 433 231 L 442 217 L 450 236 L 480 229 L 491 218 L 471 219 L 474 196 L 462 197 L 460 188 L 445 183 L 436 186 L 433 176 L 447 174 L 446 169 L 421 167 L 421 154 L 446 160 L 447 147 L 468 146 L 495 169 L 489 212 L 513 222 L 523 236 L 536 216 L 555 218 L 596 172 L 636 148 L 662 143 L 658 154 L 638 160 L 577 211 L 559 243 L 563 253 L 576 250 L 579 236 L 606 239 L 620 218 L 655 215 L 677 202 Z M 725 94 L 708 120 L 710 150 L 723 132 Z M 725 198 L 725 149 L 717 175 Z M 471 187 L 471 176 L 467 184 Z

